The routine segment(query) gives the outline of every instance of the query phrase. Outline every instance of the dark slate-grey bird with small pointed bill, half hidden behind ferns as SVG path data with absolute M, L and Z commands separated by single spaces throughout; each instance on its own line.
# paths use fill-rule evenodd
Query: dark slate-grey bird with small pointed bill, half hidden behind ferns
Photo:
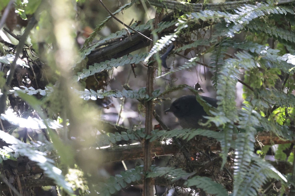
M 213 107 L 217 107 L 217 99 L 205 96 L 201 98 Z M 182 128 L 204 128 L 199 123 L 205 123 L 206 119 L 203 116 L 208 116 L 194 95 L 185 95 L 176 99 L 170 108 L 164 111 L 167 112 L 172 112 L 178 118 Z

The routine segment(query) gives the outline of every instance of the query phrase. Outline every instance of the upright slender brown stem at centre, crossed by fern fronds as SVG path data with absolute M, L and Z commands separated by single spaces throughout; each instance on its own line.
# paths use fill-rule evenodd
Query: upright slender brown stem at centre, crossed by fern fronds
M 157 24 L 160 22 L 162 16 L 162 12 L 156 13 L 155 15 L 155 20 L 153 26 L 157 28 Z M 154 39 L 156 41 L 156 39 Z M 153 47 L 154 43 L 151 43 L 150 48 Z M 153 59 L 151 59 L 152 61 Z M 146 81 L 146 92 L 148 93 L 149 96 L 152 96 L 152 92 L 154 90 L 153 88 L 153 81 L 154 81 L 154 75 L 155 75 L 155 68 L 157 67 L 155 63 L 152 63 L 150 66 L 148 66 L 148 72 L 147 72 L 147 81 Z M 145 133 L 149 135 L 151 131 L 153 130 L 153 100 L 149 100 L 145 103 L 145 108 L 146 108 L 146 115 L 145 115 Z M 147 173 L 150 170 L 150 166 L 152 165 L 152 153 L 151 153 L 151 148 L 152 148 L 153 143 L 150 142 L 149 139 L 146 139 L 144 141 L 144 166 L 143 170 L 144 173 Z M 153 178 L 144 178 L 143 181 L 143 196 L 154 196 L 154 179 Z

